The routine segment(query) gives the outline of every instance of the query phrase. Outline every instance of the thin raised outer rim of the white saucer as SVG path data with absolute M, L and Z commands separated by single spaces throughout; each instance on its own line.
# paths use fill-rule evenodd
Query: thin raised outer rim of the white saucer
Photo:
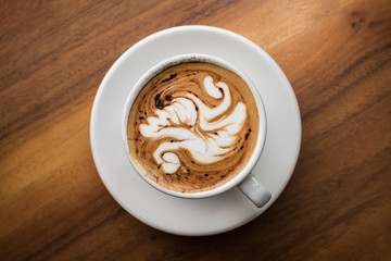
M 98 105 L 100 104 L 101 100 L 102 100 L 102 94 L 103 94 L 103 89 L 106 86 L 106 82 L 109 82 L 110 77 L 112 76 L 112 74 L 121 66 L 121 64 L 127 59 L 128 55 L 130 55 L 133 52 L 137 52 L 137 50 L 142 47 L 144 44 L 149 42 L 149 41 L 153 41 L 154 39 L 161 37 L 161 36 L 166 36 L 169 34 L 177 34 L 178 32 L 185 30 L 187 33 L 191 33 L 191 30 L 207 30 L 207 32 L 215 32 L 218 34 L 227 34 L 230 35 L 235 38 L 237 38 L 240 41 L 245 42 L 247 45 L 250 45 L 253 49 L 255 49 L 254 51 L 257 51 L 262 54 L 262 57 L 267 61 L 268 65 L 270 65 L 273 67 L 273 70 L 279 75 L 279 78 L 285 82 L 285 86 L 289 87 L 289 88 L 285 88 L 285 91 L 289 92 L 289 99 L 291 102 L 294 102 L 297 108 L 297 112 L 294 113 L 297 115 L 295 122 L 298 123 L 298 129 L 297 129 L 297 137 L 295 140 L 298 140 L 298 147 L 294 150 L 294 154 L 292 156 L 293 159 L 293 164 L 290 167 L 290 172 L 287 175 L 287 178 L 285 179 L 283 184 L 281 184 L 279 187 L 280 189 L 275 194 L 276 197 L 274 199 L 270 200 L 270 202 L 265 206 L 261 211 L 257 211 L 256 213 L 254 213 L 251 216 L 248 216 L 248 219 L 243 219 L 242 222 L 238 222 L 231 226 L 227 226 L 220 229 L 214 229 L 214 231 L 210 231 L 209 233 L 205 232 L 200 232 L 200 233 L 194 233 L 194 232 L 179 232 L 176 229 L 171 229 L 165 227 L 164 225 L 162 226 L 159 223 L 155 222 L 151 222 L 149 220 L 146 220 L 143 216 L 139 215 L 137 211 L 128 208 L 128 206 L 125 203 L 124 199 L 122 199 L 116 192 L 115 189 L 111 186 L 111 184 L 109 183 L 109 181 L 106 179 L 106 177 L 104 175 L 102 175 L 101 173 L 103 173 L 103 167 L 100 165 L 99 162 L 99 157 L 98 157 L 98 151 L 97 148 L 94 146 L 94 140 L 93 137 L 96 137 L 96 130 L 94 130 L 94 121 L 98 117 L 97 115 L 97 110 L 98 110 Z M 266 111 L 266 116 L 267 116 L 267 111 Z M 267 139 L 267 138 L 266 138 Z M 300 152 L 300 148 L 301 148 L 301 140 L 302 140 L 302 125 L 301 125 L 301 116 L 300 116 L 300 109 L 299 109 L 299 104 L 298 104 L 298 100 L 294 96 L 293 89 L 287 78 L 287 76 L 283 74 L 282 70 L 278 66 L 278 64 L 257 45 L 255 45 L 254 42 L 250 41 L 249 39 L 247 39 L 245 37 L 238 35 L 236 33 L 232 33 L 230 30 L 227 29 L 223 29 L 223 28 L 217 28 L 217 27 L 212 27 L 212 26 L 203 26 L 203 25 L 187 25 L 187 26 L 177 26 L 177 27 L 172 27 L 172 28 L 167 28 L 157 33 L 154 33 L 143 39 L 141 39 L 140 41 L 138 41 L 137 44 L 135 44 L 134 46 L 131 46 L 129 49 L 127 49 L 114 63 L 113 65 L 110 67 L 110 70 L 108 71 L 108 73 L 105 74 L 104 78 L 101 82 L 101 85 L 99 86 L 99 89 L 97 91 L 94 101 L 93 101 L 93 105 L 92 105 L 92 112 L 91 112 L 91 119 L 90 119 L 90 145 L 91 145 L 91 150 L 92 150 L 92 156 L 93 156 L 93 161 L 94 164 L 97 166 L 98 173 L 104 184 L 104 186 L 108 188 L 108 190 L 110 191 L 110 194 L 112 195 L 112 197 L 128 212 L 130 213 L 133 216 L 135 216 L 136 219 L 138 219 L 139 221 L 156 228 L 163 232 L 167 232 L 167 233 L 172 233 L 172 234 L 176 234 L 176 235 L 186 235 L 186 236 L 206 236 L 206 235 L 215 235 L 215 234 L 219 234 L 219 233 L 224 233 L 227 231 L 231 231 L 235 229 L 237 227 L 240 227 L 241 225 L 252 221 L 253 219 L 257 217 L 258 215 L 261 215 L 264 211 L 266 211 L 266 209 L 268 209 L 276 200 L 277 198 L 281 195 L 282 190 L 286 188 L 287 184 L 289 183 L 293 170 L 295 167 L 295 164 L 298 162 L 299 159 L 299 152 Z

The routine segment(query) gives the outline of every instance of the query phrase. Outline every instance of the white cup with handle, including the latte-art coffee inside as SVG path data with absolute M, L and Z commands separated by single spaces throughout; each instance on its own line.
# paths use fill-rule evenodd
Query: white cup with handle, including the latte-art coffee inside
M 207 54 L 164 60 L 133 86 L 122 137 L 129 162 L 171 196 L 199 199 L 238 187 L 256 207 L 272 195 L 251 173 L 266 139 L 266 114 L 254 84 Z

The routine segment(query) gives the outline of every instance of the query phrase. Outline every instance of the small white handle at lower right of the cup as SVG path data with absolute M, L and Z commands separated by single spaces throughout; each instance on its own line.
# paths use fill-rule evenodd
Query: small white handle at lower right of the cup
M 257 208 L 264 207 L 272 199 L 272 194 L 262 183 L 256 181 L 252 173 L 250 173 L 250 175 L 245 177 L 245 179 L 241 184 L 238 185 L 238 188 Z

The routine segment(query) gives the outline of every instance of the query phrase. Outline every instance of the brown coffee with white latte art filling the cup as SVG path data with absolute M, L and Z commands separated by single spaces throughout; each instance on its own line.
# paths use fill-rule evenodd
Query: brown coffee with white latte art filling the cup
M 207 62 L 181 63 L 138 94 L 127 124 L 129 154 L 164 188 L 210 190 L 247 165 L 258 121 L 253 95 L 236 73 Z

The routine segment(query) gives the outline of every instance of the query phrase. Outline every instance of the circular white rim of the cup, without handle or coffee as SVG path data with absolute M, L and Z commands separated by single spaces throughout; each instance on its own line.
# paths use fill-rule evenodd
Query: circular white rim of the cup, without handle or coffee
M 136 100 L 138 94 L 141 91 L 141 89 L 144 87 L 144 85 L 150 79 L 152 79 L 156 74 L 163 72 L 164 70 L 169 69 L 169 67 L 175 66 L 180 63 L 186 63 L 186 62 L 213 63 L 215 65 L 228 69 L 228 70 L 235 72 L 236 74 L 238 74 L 248 84 L 248 86 L 254 97 L 256 108 L 257 108 L 257 113 L 258 113 L 258 135 L 257 135 L 257 139 L 256 139 L 254 152 L 251 156 L 248 163 L 245 164 L 245 166 L 235 177 L 232 177 L 225 184 L 223 184 L 218 187 L 209 189 L 209 190 L 203 190 L 203 191 L 198 191 L 198 192 L 179 192 L 179 191 L 169 190 L 165 187 L 160 186 L 157 183 L 155 183 L 152 179 L 150 179 L 149 177 L 147 177 L 146 176 L 147 171 L 141 166 L 140 163 L 138 163 L 137 161 L 131 159 L 130 152 L 129 152 L 129 144 L 128 144 L 128 139 L 127 139 L 127 125 L 128 125 L 129 112 L 130 112 L 134 101 Z M 258 159 L 262 154 L 264 145 L 265 145 L 266 129 L 267 129 L 266 124 L 267 124 L 267 122 L 266 122 L 266 112 L 265 112 L 264 102 L 261 98 L 261 95 L 260 95 L 257 88 L 255 87 L 255 85 L 251 82 L 251 79 L 247 75 L 244 75 L 236 66 L 234 66 L 232 64 L 230 64 L 229 62 L 227 62 L 220 58 L 210 55 L 210 54 L 204 54 L 204 53 L 186 53 L 186 54 L 174 55 L 174 57 L 171 57 L 168 59 L 165 59 L 165 60 L 156 63 L 154 66 L 149 69 L 146 73 L 143 73 L 142 76 L 133 86 L 133 88 L 129 91 L 128 97 L 126 98 L 124 110 L 123 110 L 122 139 L 123 139 L 123 145 L 124 145 L 128 161 L 134 166 L 137 174 L 139 176 L 141 176 L 142 179 L 146 181 L 153 188 L 155 188 L 162 192 L 165 192 L 167 195 L 178 197 L 178 198 L 207 198 L 207 197 L 212 197 L 212 196 L 216 196 L 218 194 L 225 192 L 225 191 L 238 186 L 251 173 L 251 171 L 254 169 L 256 162 L 258 161 Z

